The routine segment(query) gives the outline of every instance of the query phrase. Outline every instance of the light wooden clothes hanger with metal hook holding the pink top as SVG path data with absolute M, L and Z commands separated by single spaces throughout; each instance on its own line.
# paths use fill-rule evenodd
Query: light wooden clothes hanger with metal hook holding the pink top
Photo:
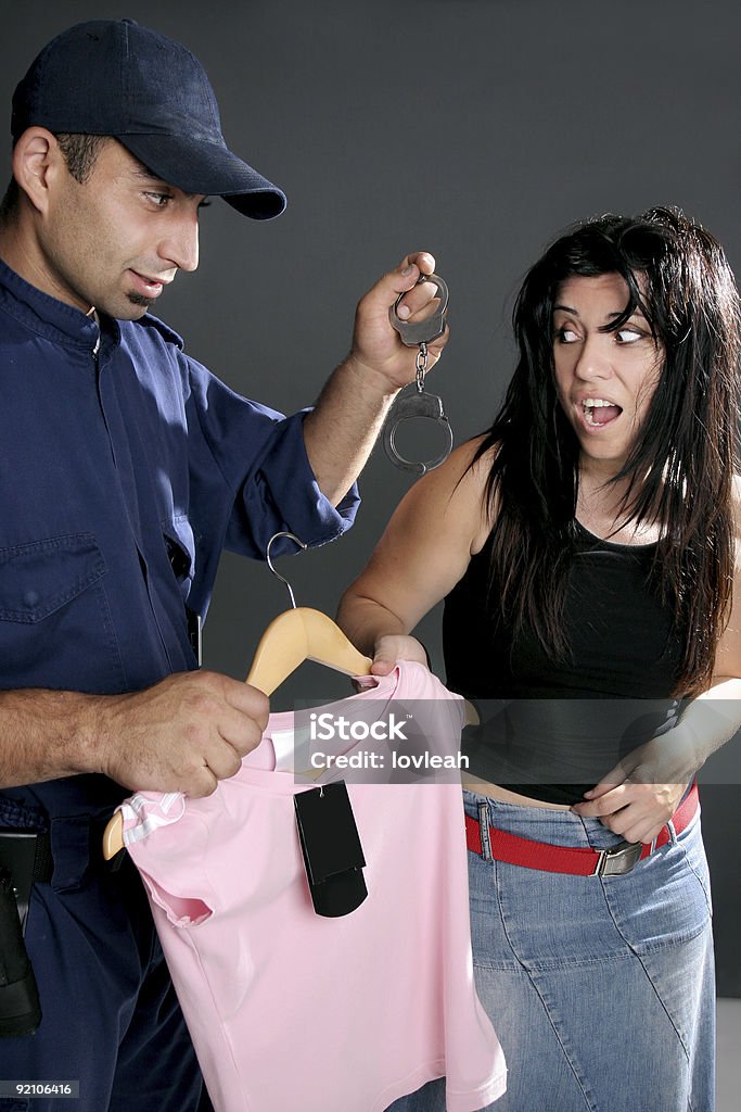
M 272 695 L 292 672 L 304 661 L 324 664 L 336 672 L 349 676 L 370 675 L 369 656 L 363 656 L 346 637 L 340 627 L 321 610 L 308 606 L 297 606 L 291 585 L 282 575 L 278 575 L 270 563 L 270 545 L 279 536 L 292 537 L 302 548 L 307 546 L 293 534 L 277 533 L 268 543 L 267 560 L 273 575 L 288 587 L 292 608 L 279 614 L 270 623 L 257 647 L 252 658 L 252 667 L 247 683 L 258 687 L 266 695 Z M 465 722 L 479 722 L 475 708 L 465 702 Z M 103 832 L 103 856 L 107 861 L 114 857 L 123 848 L 123 816 L 117 811 Z

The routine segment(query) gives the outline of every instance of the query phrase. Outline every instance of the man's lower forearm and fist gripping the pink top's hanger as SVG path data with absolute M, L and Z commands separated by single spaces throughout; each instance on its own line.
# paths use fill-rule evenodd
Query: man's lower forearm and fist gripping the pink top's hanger
M 209 795 L 262 737 L 269 704 L 200 669 L 117 695 L 0 693 L 0 787 L 102 773 L 133 792 Z

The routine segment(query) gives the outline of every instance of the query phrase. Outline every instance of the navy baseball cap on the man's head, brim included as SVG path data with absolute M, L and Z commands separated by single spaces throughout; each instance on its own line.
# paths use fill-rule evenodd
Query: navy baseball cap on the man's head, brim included
M 131 19 L 77 23 L 47 43 L 13 93 L 10 130 L 112 136 L 158 178 L 270 220 L 286 195 L 233 155 L 201 63 Z

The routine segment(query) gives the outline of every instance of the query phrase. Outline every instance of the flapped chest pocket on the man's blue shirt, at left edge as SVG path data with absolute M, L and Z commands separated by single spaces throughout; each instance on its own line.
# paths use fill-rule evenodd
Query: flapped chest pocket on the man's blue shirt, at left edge
M 121 687 L 106 574 L 103 555 L 89 533 L 0 548 L 3 687 Z

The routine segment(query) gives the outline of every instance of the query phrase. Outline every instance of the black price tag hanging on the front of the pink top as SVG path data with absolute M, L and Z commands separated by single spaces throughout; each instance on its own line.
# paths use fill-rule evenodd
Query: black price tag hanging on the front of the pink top
M 344 781 L 293 796 L 296 821 L 318 915 L 334 919 L 359 907 L 368 895 L 366 865 Z

